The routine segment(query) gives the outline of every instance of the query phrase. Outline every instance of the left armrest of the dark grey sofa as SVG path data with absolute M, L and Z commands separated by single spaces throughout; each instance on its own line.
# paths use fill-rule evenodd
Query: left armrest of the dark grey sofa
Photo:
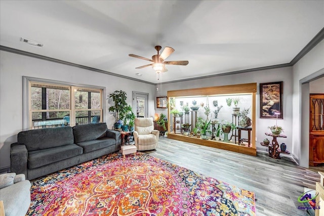
M 10 147 L 11 172 L 27 175 L 28 151 L 25 145 L 13 143 Z

